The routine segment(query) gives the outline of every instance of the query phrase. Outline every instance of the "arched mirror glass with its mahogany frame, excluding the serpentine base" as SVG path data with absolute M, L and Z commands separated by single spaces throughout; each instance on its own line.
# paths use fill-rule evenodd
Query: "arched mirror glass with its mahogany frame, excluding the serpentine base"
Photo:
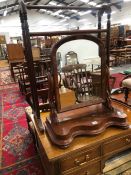
M 56 61 L 57 53 L 61 53 L 60 69 Z M 53 47 L 53 76 L 58 112 L 98 104 L 104 100 L 105 91 L 102 87 L 106 84 L 103 73 L 105 61 L 104 46 L 95 36 L 68 36 Z

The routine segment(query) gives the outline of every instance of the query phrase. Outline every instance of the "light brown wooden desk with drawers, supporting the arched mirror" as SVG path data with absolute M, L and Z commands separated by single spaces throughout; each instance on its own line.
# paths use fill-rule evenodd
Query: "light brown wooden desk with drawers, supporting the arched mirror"
M 70 147 L 52 145 L 46 133 L 41 134 L 34 118 L 26 110 L 29 129 L 40 153 L 44 175 L 102 175 L 105 161 L 131 147 L 131 129 L 108 128 L 93 137 L 78 137 Z M 42 116 L 45 120 L 45 114 Z M 131 124 L 131 112 L 128 113 Z

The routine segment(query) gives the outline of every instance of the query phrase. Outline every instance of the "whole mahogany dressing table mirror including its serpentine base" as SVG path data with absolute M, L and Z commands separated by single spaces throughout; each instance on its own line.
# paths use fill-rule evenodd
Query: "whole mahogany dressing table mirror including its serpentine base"
M 62 89 L 58 82 L 56 53 L 59 51 L 62 55 L 62 50 L 66 50 L 67 45 L 71 44 L 71 49 L 74 52 L 77 50 L 79 64 L 66 65 L 62 62 L 63 67 L 60 74 L 63 87 L 61 88 L 64 89 L 63 93 L 66 97 L 62 99 Z M 88 68 L 90 67 L 89 62 L 91 65 L 94 64 L 93 58 L 87 59 L 87 64 L 85 60 L 79 59 L 80 57 L 89 57 L 92 53 L 89 53 L 90 47 L 95 53 L 94 57 L 99 63 L 99 69 Z M 126 115 L 111 105 L 106 58 L 106 49 L 102 41 L 93 35 L 67 36 L 53 46 L 51 51 L 53 65 L 51 87 L 53 90 L 50 91 L 52 108 L 45 126 L 54 144 L 62 148 L 68 147 L 76 136 L 96 135 L 112 125 L 128 128 Z M 63 105 L 62 100 L 67 100 L 69 103 Z

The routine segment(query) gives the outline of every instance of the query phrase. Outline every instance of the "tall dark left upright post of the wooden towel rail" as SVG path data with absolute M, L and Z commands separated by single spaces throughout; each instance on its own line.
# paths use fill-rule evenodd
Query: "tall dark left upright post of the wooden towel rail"
M 19 0 L 19 4 L 20 4 L 19 16 L 21 20 L 21 28 L 22 28 L 22 35 L 23 35 L 24 48 L 25 48 L 25 51 L 24 51 L 25 59 L 27 61 L 28 76 L 29 76 L 29 81 L 31 85 L 30 88 L 31 88 L 32 100 L 33 100 L 33 112 L 35 116 L 34 119 L 36 120 L 36 123 L 40 131 L 43 132 L 44 126 L 40 118 L 39 102 L 38 102 L 38 95 L 37 95 L 37 85 L 36 85 L 36 79 L 35 79 L 35 70 L 34 70 L 34 64 L 33 64 L 29 27 L 28 27 L 28 22 L 27 22 L 27 10 L 22 0 Z

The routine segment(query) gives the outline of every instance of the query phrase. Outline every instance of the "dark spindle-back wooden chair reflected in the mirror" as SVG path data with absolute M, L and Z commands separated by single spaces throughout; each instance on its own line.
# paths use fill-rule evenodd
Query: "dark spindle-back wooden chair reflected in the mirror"
M 89 96 L 100 96 L 100 74 L 90 73 L 86 64 L 68 65 L 62 68 L 64 86 L 74 90 L 77 102 L 87 101 Z

